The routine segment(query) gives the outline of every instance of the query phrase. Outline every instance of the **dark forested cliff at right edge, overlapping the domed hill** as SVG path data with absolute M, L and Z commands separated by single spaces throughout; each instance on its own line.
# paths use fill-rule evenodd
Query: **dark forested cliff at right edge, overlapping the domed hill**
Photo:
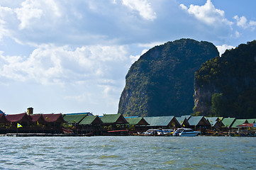
M 226 50 L 195 73 L 196 115 L 256 117 L 256 41 Z

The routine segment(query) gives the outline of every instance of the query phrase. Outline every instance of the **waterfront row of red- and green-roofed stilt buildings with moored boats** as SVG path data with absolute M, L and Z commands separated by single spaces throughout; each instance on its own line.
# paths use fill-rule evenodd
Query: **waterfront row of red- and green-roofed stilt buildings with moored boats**
M 92 113 L 0 113 L 1 136 L 256 136 L 255 119 L 182 115 L 124 117 Z

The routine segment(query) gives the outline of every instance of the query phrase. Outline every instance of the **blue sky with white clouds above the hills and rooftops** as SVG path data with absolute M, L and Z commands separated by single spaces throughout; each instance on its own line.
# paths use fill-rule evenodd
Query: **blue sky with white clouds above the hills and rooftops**
M 255 0 L 1 0 L 0 110 L 117 113 L 130 66 L 181 38 L 256 39 Z

